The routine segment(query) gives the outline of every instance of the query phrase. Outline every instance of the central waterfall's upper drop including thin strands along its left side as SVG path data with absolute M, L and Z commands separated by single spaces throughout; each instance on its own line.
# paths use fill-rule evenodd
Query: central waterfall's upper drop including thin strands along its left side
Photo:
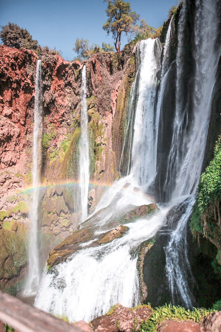
M 120 162 L 122 173 L 131 174 L 145 189 L 156 173 L 159 116 L 155 103 L 161 49 L 159 40 L 148 39 L 138 45 L 139 67 L 130 91 L 129 120 Z

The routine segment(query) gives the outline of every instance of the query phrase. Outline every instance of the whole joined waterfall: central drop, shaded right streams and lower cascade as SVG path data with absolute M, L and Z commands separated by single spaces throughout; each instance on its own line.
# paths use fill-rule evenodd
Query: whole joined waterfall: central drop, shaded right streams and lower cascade
M 127 224 L 129 231 L 123 237 L 99 247 L 85 248 L 83 244 L 81 250 L 66 262 L 55 266 L 53 272 L 44 271 L 35 299 L 36 307 L 56 315 L 65 314 L 72 321 L 89 321 L 94 316 L 106 313 L 111 305 L 118 302 L 125 306 L 138 304 L 137 249 L 165 225 L 169 233 L 169 242 L 164 249 L 171 298 L 174 302 L 181 298 L 187 307 L 192 307 L 194 299 L 188 286 L 191 270 L 187 255 L 186 226 L 201 174 L 212 90 L 221 54 L 220 49 L 214 50 L 214 36 L 218 28 L 218 22 L 214 19 L 217 1 L 196 1 L 191 114 L 187 106 L 188 96 L 183 91 L 187 1 L 184 1 L 181 10 L 176 89 L 171 92 L 175 93 L 176 103 L 167 166 L 163 170 L 165 178 L 162 191 L 167 199 L 157 204 L 159 210 L 153 216 Z M 162 68 L 161 44 L 158 39 L 141 41 L 138 45 L 138 70 L 129 96 L 128 125 L 120 163 L 124 177 L 104 193 L 89 216 L 86 225 L 96 230 L 97 234 L 117 226 L 114 217 L 119 216 L 129 205 L 149 204 L 155 195 L 151 190 L 154 188 L 156 191 L 156 179 L 163 169 L 163 164 L 158 163 L 159 137 L 162 136 L 159 124 L 171 70 L 168 57 L 173 33 L 174 24 L 171 22 Z M 99 210 L 100 218 L 97 218 L 95 213 Z M 178 210 L 181 211 L 177 213 L 179 218 L 174 218 Z

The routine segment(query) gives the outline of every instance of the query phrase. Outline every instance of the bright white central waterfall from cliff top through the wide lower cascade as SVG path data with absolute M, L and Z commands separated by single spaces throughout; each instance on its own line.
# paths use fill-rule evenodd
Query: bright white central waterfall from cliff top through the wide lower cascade
M 148 177 L 152 177 L 155 172 L 154 168 L 149 171 L 145 165 L 140 167 L 142 160 L 147 161 L 140 136 L 143 134 L 151 141 L 155 139 L 152 126 L 160 51 L 159 40 L 149 39 L 140 42 L 140 78 L 137 83 L 139 94 L 134 129 L 133 165 L 131 174 L 116 182 L 98 203 L 95 211 L 110 207 L 104 218 L 102 215 L 98 222 L 89 225 L 98 233 L 106 230 L 108 220 L 118 215 L 124 207 L 150 203 L 148 197 L 145 197 L 141 190 L 138 191 L 139 185 L 148 182 Z M 142 127 L 144 113 L 149 121 L 146 120 Z M 145 147 L 148 148 L 148 144 L 145 144 Z M 154 159 L 152 151 L 148 151 L 150 159 Z M 135 157 L 139 157 L 139 163 L 135 162 Z M 138 304 L 137 248 L 162 227 L 167 212 L 168 209 L 163 209 L 148 219 L 127 224 L 130 230 L 122 238 L 99 247 L 83 248 L 67 262 L 57 265 L 55 272 L 45 273 L 35 299 L 35 306 L 55 314 L 65 314 L 70 320 L 88 321 L 105 313 L 117 302 L 126 306 Z

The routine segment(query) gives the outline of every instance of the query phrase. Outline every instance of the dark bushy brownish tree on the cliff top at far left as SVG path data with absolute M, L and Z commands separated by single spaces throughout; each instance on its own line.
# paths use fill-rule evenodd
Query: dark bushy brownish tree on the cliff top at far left
M 16 48 L 37 49 L 37 40 L 33 40 L 32 36 L 26 29 L 20 28 L 15 23 L 8 23 L 1 26 L 0 38 L 4 45 Z

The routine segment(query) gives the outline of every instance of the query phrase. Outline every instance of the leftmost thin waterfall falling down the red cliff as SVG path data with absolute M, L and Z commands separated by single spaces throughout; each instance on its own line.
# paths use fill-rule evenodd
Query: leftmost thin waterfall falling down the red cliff
M 37 61 L 34 99 L 34 130 L 33 130 L 33 166 L 32 187 L 33 197 L 30 211 L 30 233 L 28 248 L 28 280 L 24 294 L 35 294 L 39 285 L 38 255 L 38 204 L 39 204 L 39 173 L 41 165 L 41 126 L 42 126 L 42 93 L 41 93 L 41 60 Z

